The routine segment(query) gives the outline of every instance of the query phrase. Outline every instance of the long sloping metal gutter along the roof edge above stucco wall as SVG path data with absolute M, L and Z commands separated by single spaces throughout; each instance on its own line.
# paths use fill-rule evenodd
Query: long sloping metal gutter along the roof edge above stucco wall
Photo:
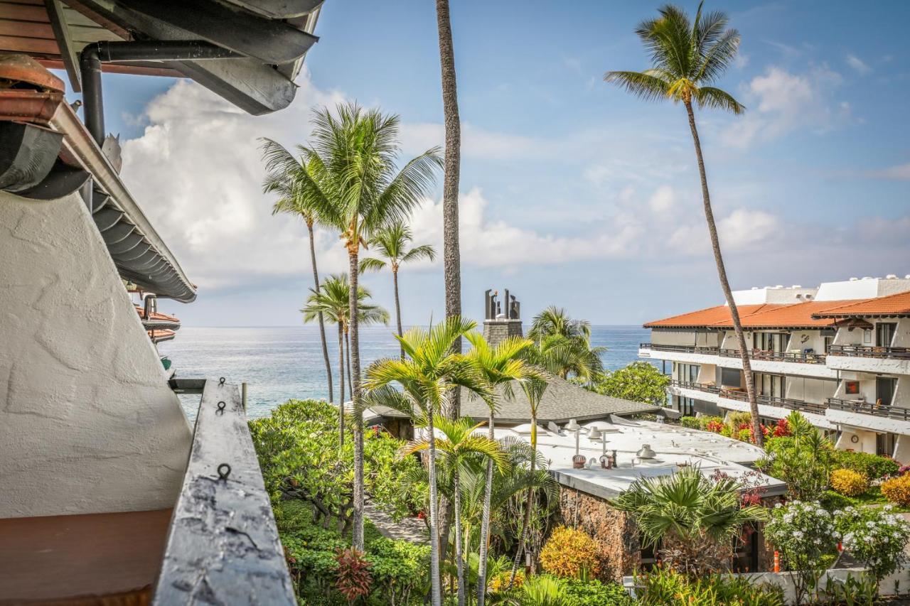
M 193 301 L 196 298 L 196 287 L 189 281 L 183 268 L 177 263 L 177 258 L 158 235 L 155 227 L 152 227 L 72 107 L 61 103 L 51 118 L 51 126 L 64 134 L 62 153 L 67 153 L 85 167 L 92 175 L 96 186 L 110 197 L 106 207 L 116 207 L 121 211 L 126 219 L 136 226 L 136 233 L 151 245 L 150 250 L 155 253 L 158 262 L 144 263 L 142 268 L 130 268 L 128 261 L 115 259 L 121 275 L 136 285 L 156 293 L 158 297 L 173 298 L 183 303 Z M 116 242 L 108 243 L 108 249 L 113 246 L 116 246 Z

